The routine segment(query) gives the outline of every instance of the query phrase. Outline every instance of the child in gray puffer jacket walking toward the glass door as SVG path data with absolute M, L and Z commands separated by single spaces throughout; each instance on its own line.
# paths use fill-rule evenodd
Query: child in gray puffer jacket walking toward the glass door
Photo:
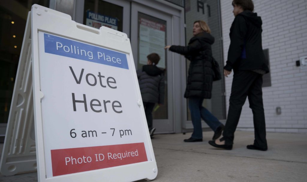
M 153 132 L 156 128 L 153 127 L 153 107 L 155 103 L 162 105 L 164 103 L 164 70 L 159 69 L 156 65 L 160 61 L 160 56 L 157 53 L 152 53 L 147 56 L 147 65 L 142 69 L 138 69 L 138 83 L 142 95 L 146 120 L 150 137 L 153 137 Z

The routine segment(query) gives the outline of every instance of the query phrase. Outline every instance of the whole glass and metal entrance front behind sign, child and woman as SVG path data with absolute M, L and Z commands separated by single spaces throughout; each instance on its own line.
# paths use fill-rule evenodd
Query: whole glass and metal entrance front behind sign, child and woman
M 18 2 L 16 4 L 16 2 Z M 1 3 L 2 30 L 0 68 L 0 138 L 5 136 L 8 113 L 25 27 L 25 17 L 32 1 Z M 107 26 L 124 32 L 130 38 L 135 68 L 146 64 L 146 56 L 157 53 L 157 65 L 165 69 L 165 101 L 153 112 L 153 126 L 157 133 L 188 132 L 192 123 L 183 97 L 188 61 L 180 54 L 165 51 L 165 45 L 186 45 L 191 38 L 195 20 L 205 20 L 216 42 L 212 53 L 223 68 L 222 39 L 219 23 L 219 1 L 177 0 L 41 0 L 40 5 L 69 14 L 77 23 L 100 28 Z M 14 8 L 12 8 L 14 7 Z M 215 9 L 215 10 L 214 10 Z M 14 22 L 14 23 L 12 23 Z M 22 25 L 22 26 L 21 26 Z M 17 26 L 17 27 L 16 27 Z M 186 27 L 186 28 L 185 28 Z M 19 51 L 18 51 L 19 49 Z M 218 119 L 225 119 L 224 80 L 214 83 L 212 99 L 207 107 Z M 204 125 L 204 127 L 207 127 Z M 0 139 L 1 142 L 1 139 Z

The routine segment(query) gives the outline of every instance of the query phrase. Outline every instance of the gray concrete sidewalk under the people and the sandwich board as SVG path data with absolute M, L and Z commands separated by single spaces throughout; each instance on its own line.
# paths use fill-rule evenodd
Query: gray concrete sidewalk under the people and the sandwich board
M 211 147 L 208 140 L 213 132 L 204 132 L 204 142 L 184 143 L 190 135 L 155 135 L 152 139 L 158 166 L 155 182 L 307 181 L 306 134 L 267 133 L 267 151 L 246 149 L 253 143 L 254 132 L 237 131 L 232 150 Z M 0 174 L 0 182 L 34 181 L 37 173 Z

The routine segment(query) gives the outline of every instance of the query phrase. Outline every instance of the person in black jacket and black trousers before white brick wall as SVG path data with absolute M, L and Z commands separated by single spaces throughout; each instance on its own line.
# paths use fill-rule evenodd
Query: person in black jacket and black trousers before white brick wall
M 223 149 L 232 149 L 235 129 L 246 98 L 253 111 L 255 140 L 248 149 L 267 150 L 266 124 L 262 102 L 262 75 L 269 72 L 262 50 L 262 20 L 253 13 L 251 0 L 233 0 L 235 20 L 230 28 L 230 46 L 224 67 L 227 77 L 234 71 L 229 110 L 223 137 L 209 144 Z

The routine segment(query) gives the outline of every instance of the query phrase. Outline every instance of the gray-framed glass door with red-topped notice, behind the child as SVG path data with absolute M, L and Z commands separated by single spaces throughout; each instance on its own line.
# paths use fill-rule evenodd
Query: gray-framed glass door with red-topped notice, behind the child
M 131 46 L 136 69 L 147 64 L 147 55 L 157 53 L 160 61 L 157 67 L 165 71 L 164 105 L 153 110 L 153 127 L 156 133 L 174 132 L 173 123 L 173 68 L 172 55 L 166 54 L 164 47 L 171 45 L 171 15 L 135 2 L 131 3 Z

